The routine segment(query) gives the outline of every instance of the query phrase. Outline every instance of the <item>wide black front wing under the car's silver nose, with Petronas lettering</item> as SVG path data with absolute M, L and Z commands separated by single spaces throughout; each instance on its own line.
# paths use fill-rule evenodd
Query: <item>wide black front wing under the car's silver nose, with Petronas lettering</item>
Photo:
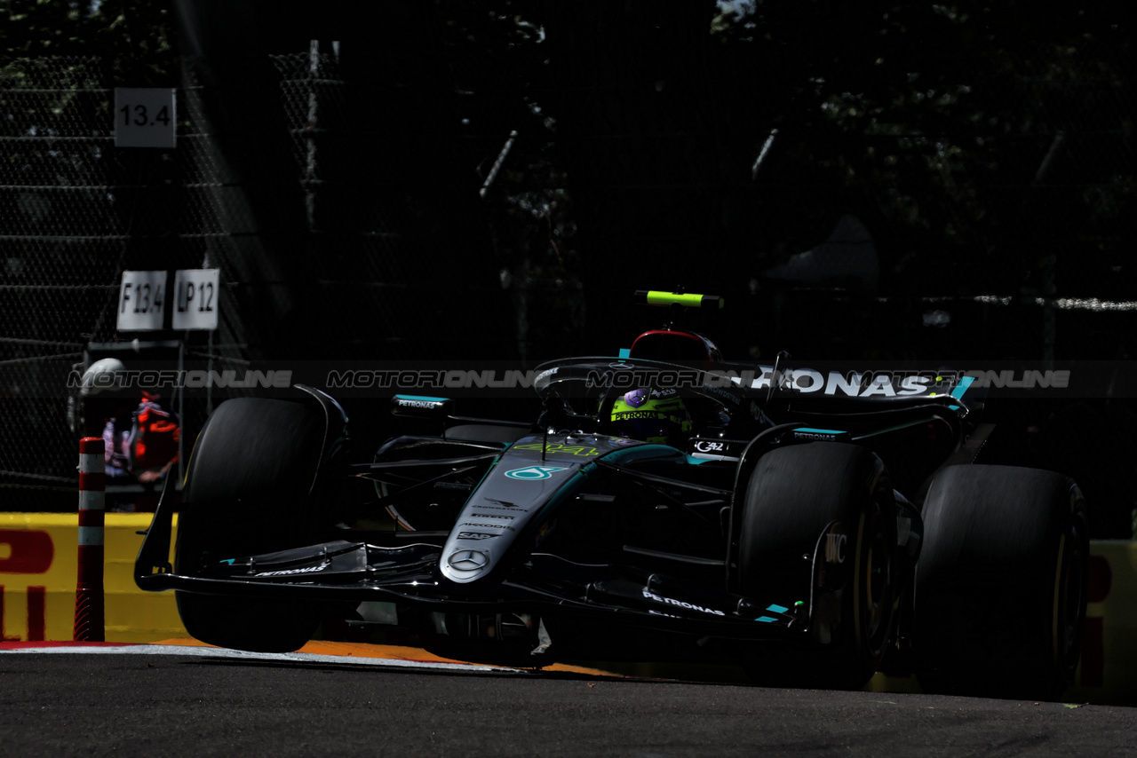
M 156 518 L 157 522 L 157 518 Z M 151 527 L 151 532 L 153 527 Z M 414 536 L 414 533 L 406 533 Z M 149 541 L 149 540 L 148 540 Z M 167 533 L 168 543 L 168 533 Z M 584 565 L 532 553 L 505 578 L 478 594 L 439 578 L 442 547 L 376 545 L 337 541 L 226 559 L 194 575 L 168 564 L 135 565 L 143 590 L 277 598 L 337 603 L 388 602 L 396 608 L 457 614 L 532 613 L 736 640 L 811 644 L 816 599 L 836 582 L 824 566 L 824 538 L 814 550 L 808 597 L 750 599 L 633 566 Z M 167 553 L 168 555 L 168 553 Z

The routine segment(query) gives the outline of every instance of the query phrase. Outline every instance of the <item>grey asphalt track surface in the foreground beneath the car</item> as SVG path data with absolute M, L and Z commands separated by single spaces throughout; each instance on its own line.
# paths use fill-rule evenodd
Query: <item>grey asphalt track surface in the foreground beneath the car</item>
M 1073 705 L 769 690 L 573 667 L 533 673 L 357 652 L 0 650 L 2 758 L 1137 755 L 1137 709 Z

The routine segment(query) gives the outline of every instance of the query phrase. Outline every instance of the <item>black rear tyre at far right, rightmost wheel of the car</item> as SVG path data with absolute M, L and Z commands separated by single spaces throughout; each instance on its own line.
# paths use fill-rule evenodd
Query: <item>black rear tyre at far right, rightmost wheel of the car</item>
M 923 507 L 914 652 L 927 692 L 1051 700 L 1073 680 L 1089 541 L 1062 474 L 952 466 Z

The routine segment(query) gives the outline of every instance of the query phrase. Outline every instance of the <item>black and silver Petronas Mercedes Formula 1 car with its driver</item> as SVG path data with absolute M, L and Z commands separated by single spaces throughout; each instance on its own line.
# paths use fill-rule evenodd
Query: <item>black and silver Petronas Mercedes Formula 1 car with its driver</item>
M 969 377 L 886 381 L 729 364 L 669 324 L 619 357 L 539 367 L 532 424 L 396 395 L 438 433 L 365 463 L 318 390 L 229 400 L 188 466 L 174 565 L 163 497 L 136 582 L 175 590 L 193 636 L 247 650 L 294 650 L 339 619 L 514 666 L 732 663 L 824 688 L 883 669 L 1059 697 L 1086 614 L 1078 486 L 974 463 Z M 359 483 L 362 505 L 343 494 Z

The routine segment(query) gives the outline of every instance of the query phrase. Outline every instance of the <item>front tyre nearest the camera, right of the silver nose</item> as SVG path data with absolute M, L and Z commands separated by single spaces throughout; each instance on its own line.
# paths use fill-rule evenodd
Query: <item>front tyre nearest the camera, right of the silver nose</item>
M 739 591 L 757 601 L 808 602 L 816 578 L 811 561 L 823 533 L 827 578 L 813 608 L 821 650 L 760 651 L 747 664 L 760 683 L 860 689 L 888 647 L 896 505 L 883 464 L 865 448 L 820 442 L 758 459 L 739 534 Z

